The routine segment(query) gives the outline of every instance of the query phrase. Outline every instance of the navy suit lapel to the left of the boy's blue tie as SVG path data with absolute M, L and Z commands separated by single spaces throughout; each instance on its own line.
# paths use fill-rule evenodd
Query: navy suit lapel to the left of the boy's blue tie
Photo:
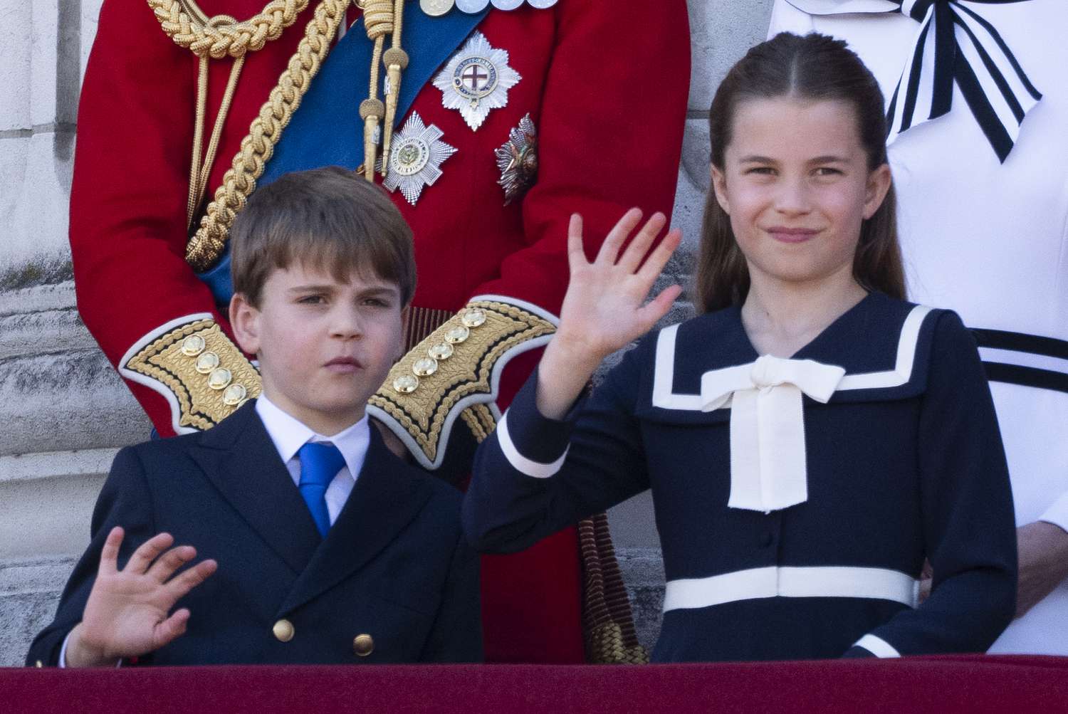
M 192 457 L 219 493 L 295 572 L 321 542 L 253 401 L 204 432 Z

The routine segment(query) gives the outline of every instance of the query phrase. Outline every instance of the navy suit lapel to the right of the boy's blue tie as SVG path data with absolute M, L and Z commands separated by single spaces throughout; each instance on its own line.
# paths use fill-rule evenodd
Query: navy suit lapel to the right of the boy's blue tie
M 345 507 L 294 584 L 281 613 L 325 592 L 392 543 L 429 499 L 431 489 L 371 429 L 371 445 Z M 311 517 L 309 517 L 311 522 Z

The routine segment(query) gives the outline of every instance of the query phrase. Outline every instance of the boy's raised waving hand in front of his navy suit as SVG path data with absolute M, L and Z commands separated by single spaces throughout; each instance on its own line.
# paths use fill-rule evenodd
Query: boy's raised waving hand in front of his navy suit
M 119 570 L 122 542 L 123 529 L 116 526 L 100 551 L 96 582 L 81 622 L 70 631 L 68 667 L 114 665 L 122 657 L 155 651 L 182 635 L 189 610 L 183 607 L 171 614 L 171 608 L 217 568 L 215 560 L 203 560 L 175 576 L 178 568 L 197 557 L 197 550 L 191 545 L 170 548 L 174 538 L 162 533 L 142 543 L 126 569 Z

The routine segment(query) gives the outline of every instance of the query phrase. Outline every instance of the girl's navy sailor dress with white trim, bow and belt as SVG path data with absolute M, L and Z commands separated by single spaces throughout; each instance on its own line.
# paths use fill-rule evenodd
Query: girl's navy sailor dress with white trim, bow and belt
M 1008 473 L 955 313 L 873 292 L 781 360 L 729 307 L 641 340 L 564 421 L 536 380 L 478 449 L 468 539 L 518 551 L 651 489 L 654 662 L 981 652 L 1011 620 Z

